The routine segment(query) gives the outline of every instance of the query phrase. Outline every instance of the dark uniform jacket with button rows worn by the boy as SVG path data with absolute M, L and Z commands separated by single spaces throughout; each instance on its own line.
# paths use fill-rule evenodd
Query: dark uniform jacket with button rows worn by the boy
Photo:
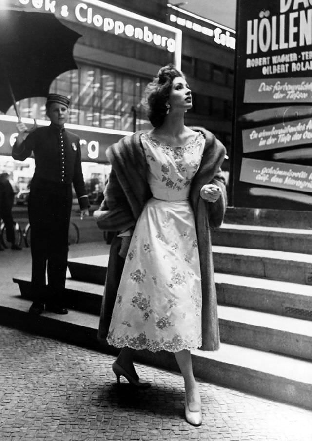
M 13 159 L 24 161 L 34 154 L 34 178 L 55 183 L 73 184 L 81 208 L 88 198 L 81 168 L 81 149 L 76 134 L 55 124 L 39 127 L 20 146 L 13 146 Z

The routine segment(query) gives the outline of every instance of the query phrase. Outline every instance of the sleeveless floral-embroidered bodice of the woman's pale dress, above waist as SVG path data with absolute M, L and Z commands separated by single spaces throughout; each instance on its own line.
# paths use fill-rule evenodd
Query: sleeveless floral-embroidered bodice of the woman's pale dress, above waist
M 200 132 L 184 146 L 161 144 L 148 134 L 142 134 L 149 166 L 148 182 L 153 197 L 165 201 L 188 199 L 191 182 L 197 172 L 205 144 Z

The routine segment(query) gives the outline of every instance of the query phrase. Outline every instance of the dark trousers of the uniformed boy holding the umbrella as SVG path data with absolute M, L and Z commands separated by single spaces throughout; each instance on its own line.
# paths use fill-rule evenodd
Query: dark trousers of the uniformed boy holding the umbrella
M 34 300 L 64 303 L 71 208 L 71 185 L 33 178 L 28 215 Z

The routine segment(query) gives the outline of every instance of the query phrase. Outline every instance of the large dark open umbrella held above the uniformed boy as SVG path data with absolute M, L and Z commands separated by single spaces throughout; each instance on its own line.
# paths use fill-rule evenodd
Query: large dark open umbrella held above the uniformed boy
M 20 119 L 16 101 L 47 96 L 58 75 L 77 69 L 79 37 L 51 13 L 0 10 L 0 111 L 13 104 Z

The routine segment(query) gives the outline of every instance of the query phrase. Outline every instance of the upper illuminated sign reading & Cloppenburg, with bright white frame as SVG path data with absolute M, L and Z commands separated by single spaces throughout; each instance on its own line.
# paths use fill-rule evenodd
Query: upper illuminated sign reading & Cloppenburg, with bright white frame
M 51 12 L 60 19 L 78 21 L 116 36 L 131 38 L 174 54 L 180 68 L 182 32 L 173 26 L 98 0 L 7 0 L 6 6 Z

